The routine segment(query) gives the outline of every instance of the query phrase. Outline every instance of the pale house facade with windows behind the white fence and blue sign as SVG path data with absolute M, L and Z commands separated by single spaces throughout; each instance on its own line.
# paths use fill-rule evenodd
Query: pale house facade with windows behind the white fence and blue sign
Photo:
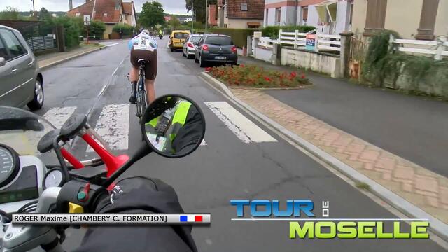
M 263 25 L 311 25 L 322 34 L 351 30 L 353 0 L 265 0 Z

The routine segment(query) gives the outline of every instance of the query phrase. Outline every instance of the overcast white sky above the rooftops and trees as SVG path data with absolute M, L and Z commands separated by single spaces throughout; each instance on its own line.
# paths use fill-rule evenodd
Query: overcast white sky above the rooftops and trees
M 125 0 L 131 1 L 131 0 Z M 186 14 L 185 0 L 158 0 L 162 3 L 166 13 L 172 14 Z M 134 0 L 137 12 L 141 11 L 141 6 L 146 0 Z M 85 0 L 73 0 L 73 8 L 85 3 Z M 45 7 L 50 11 L 67 11 L 69 10 L 69 0 L 34 0 L 36 10 Z M 12 6 L 22 11 L 29 11 L 33 9 L 31 0 L 0 0 L 0 10 Z

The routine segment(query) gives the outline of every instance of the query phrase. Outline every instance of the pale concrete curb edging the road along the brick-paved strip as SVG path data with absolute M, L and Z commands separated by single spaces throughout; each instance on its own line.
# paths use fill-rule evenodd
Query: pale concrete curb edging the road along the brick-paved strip
M 292 141 L 294 141 L 296 144 L 304 148 L 305 150 L 309 151 L 313 155 L 315 155 L 318 159 L 322 160 L 323 162 L 327 163 L 328 165 L 331 165 L 333 168 L 337 169 L 339 172 L 342 172 L 345 176 L 349 177 L 353 181 L 356 182 L 363 182 L 370 186 L 370 191 L 381 198 L 381 200 L 384 200 L 388 204 L 391 204 L 392 207 L 395 207 L 395 209 L 398 209 L 402 213 L 406 214 L 407 216 L 412 216 L 413 218 L 421 218 L 421 219 L 428 219 L 430 223 L 430 230 L 434 232 L 437 236 L 444 239 L 445 241 L 448 241 L 448 225 L 440 221 L 439 219 L 433 217 L 432 215 L 426 213 L 419 207 L 416 207 L 411 202 L 408 202 L 407 200 L 403 199 L 399 195 L 396 195 L 391 190 L 388 190 L 387 188 L 384 188 L 384 186 L 381 186 L 379 183 L 373 181 L 372 179 L 368 178 L 364 174 L 361 174 L 356 169 L 353 169 L 349 165 L 346 165 L 344 162 L 338 160 L 337 158 L 333 157 L 332 155 L 326 153 L 321 148 L 318 148 L 317 146 L 314 146 L 314 144 L 311 144 L 309 141 L 302 139 L 302 137 L 297 136 L 297 134 L 290 132 L 290 130 L 287 130 L 285 127 L 280 125 L 279 123 L 276 123 L 271 118 L 268 118 L 264 114 L 258 112 L 256 109 L 253 109 L 251 106 L 246 104 L 245 102 L 242 102 L 240 99 L 235 97 L 235 95 L 226 87 L 221 81 L 216 80 L 216 78 L 210 76 L 207 73 L 202 72 L 202 76 L 204 76 L 206 83 L 211 85 L 212 87 L 215 87 L 217 90 L 223 92 L 226 94 L 233 102 L 236 102 L 239 104 L 239 106 L 244 107 L 244 109 L 247 109 L 248 111 L 251 111 L 255 116 L 260 118 L 261 120 L 265 121 L 265 123 L 271 125 L 276 130 L 279 130 L 282 134 L 286 135 L 288 138 L 290 138 Z

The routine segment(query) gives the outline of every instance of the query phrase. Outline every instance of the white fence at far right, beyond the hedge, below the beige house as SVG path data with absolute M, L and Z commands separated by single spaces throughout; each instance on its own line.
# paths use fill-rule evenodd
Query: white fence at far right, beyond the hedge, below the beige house
M 391 35 L 391 45 L 398 44 L 400 52 L 409 52 L 424 55 L 433 55 L 434 59 L 440 60 L 448 57 L 447 37 L 440 36 L 436 41 L 421 41 L 414 39 L 398 39 Z

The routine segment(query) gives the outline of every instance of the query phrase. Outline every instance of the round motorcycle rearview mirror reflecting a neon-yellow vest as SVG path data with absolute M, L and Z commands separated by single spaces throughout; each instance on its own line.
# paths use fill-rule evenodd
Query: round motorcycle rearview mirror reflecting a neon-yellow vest
M 181 158 L 193 153 L 204 139 L 204 114 L 187 97 L 165 95 L 146 108 L 141 131 L 155 153 L 167 158 Z

